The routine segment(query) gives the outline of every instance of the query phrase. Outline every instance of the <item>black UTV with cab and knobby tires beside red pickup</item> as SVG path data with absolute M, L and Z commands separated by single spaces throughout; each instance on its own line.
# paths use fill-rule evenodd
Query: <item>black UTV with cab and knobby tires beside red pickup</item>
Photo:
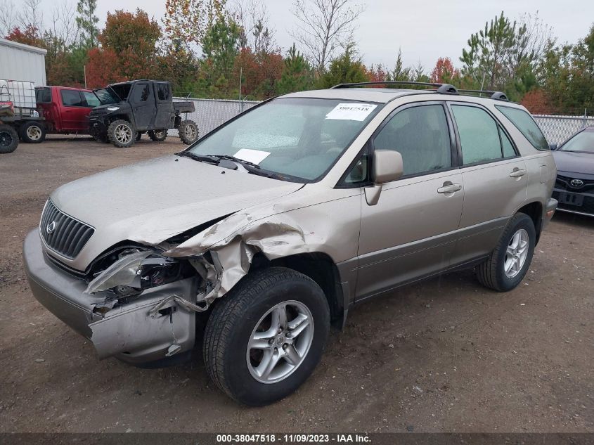
M 129 147 L 144 133 L 164 141 L 167 129 L 177 129 L 183 143 L 198 139 L 198 127 L 181 114 L 194 111 L 193 102 L 174 102 L 169 82 L 133 80 L 93 91 L 101 105 L 89 115 L 89 132 L 98 141 Z

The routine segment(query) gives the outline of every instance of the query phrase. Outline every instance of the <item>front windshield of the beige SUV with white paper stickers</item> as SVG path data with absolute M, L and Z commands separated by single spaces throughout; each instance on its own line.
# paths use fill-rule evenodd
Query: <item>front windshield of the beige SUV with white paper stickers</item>
M 380 108 L 334 99 L 278 98 L 220 127 L 189 151 L 238 157 L 287 180 L 316 181 Z

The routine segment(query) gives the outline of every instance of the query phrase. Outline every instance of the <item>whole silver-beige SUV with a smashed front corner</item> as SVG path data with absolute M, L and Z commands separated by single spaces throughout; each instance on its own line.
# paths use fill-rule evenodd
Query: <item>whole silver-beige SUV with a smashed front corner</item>
M 25 239 L 34 297 L 100 359 L 179 363 L 201 334 L 218 387 L 263 405 L 359 302 L 460 268 L 515 288 L 557 205 L 531 115 L 502 93 L 366 86 L 274 98 L 61 186 Z

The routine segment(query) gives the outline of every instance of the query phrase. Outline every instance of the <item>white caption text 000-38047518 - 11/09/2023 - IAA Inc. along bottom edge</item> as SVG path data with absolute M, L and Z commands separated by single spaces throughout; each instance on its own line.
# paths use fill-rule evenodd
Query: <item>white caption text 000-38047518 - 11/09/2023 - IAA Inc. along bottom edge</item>
M 366 434 L 217 434 L 218 444 L 369 444 Z

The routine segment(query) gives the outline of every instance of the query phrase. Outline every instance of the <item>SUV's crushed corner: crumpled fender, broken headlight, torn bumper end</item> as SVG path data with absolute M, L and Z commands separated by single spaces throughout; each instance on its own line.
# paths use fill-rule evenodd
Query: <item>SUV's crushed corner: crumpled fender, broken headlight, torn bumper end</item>
M 231 290 L 257 253 L 274 259 L 306 250 L 302 229 L 286 219 L 254 221 L 239 212 L 183 243 L 124 250 L 84 291 L 105 297 L 93 307 L 102 318 L 89 324 L 99 356 L 128 354 L 127 360 L 150 345 L 163 351 L 167 342 L 165 356 L 185 351 L 194 314 Z M 162 291 L 150 292 L 156 289 Z

